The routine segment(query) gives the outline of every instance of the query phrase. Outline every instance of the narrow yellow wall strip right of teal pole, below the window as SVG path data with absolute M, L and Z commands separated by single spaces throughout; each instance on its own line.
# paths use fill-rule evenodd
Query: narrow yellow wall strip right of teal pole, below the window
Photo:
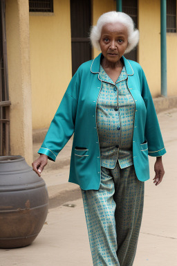
M 167 96 L 177 95 L 177 33 L 167 33 Z

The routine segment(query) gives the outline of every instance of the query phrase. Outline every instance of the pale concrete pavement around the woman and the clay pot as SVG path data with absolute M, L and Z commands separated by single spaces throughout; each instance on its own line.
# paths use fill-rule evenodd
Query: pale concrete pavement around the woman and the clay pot
M 160 185 L 153 184 L 156 159 L 149 157 L 151 179 L 145 182 L 142 227 L 133 266 L 176 266 L 177 261 L 177 109 L 158 114 L 158 120 L 167 150 L 162 157 L 165 177 Z M 71 143 L 66 147 L 68 150 L 69 145 Z M 61 156 L 66 158 L 68 153 L 63 152 Z M 0 266 L 93 265 L 82 199 L 70 199 L 72 191 L 75 191 L 73 199 L 80 197 L 80 188 L 67 183 L 68 166 L 59 170 L 50 170 L 48 166 L 42 176 L 48 186 L 50 202 L 53 200 L 50 207 L 57 207 L 49 209 L 46 224 L 32 245 L 0 249 Z M 61 201 L 59 195 L 65 198 Z M 64 206 L 64 202 L 74 206 Z

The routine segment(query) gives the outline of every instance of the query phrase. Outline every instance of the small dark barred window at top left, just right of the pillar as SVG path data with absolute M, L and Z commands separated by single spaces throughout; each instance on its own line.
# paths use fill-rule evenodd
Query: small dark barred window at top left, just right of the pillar
M 53 0 L 29 0 L 30 12 L 53 12 Z

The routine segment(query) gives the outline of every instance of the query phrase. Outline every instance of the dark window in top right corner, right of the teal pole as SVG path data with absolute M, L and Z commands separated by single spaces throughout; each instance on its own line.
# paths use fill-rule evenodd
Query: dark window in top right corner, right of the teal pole
M 176 33 L 176 0 L 167 0 L 167 33 Z

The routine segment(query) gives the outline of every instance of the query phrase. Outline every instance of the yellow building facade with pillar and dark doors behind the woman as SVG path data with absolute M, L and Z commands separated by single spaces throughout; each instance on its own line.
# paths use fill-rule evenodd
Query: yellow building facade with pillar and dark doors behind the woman
M 102 13 L 116 10 L 118 1 L 5 2 L 10 152 L 30 162 L 32 130 L 50 125 L 77 67 L 100 53 L 91 48 L 89 29 Z M 126 56 L 140 63 L 154 98 L 161 96 L 160 2 L 122 0 L 122 11 L 140 31 L 138 47 Z M 167 0 L 166 37 L 167 96 L 177 96 L 176 0 Z

